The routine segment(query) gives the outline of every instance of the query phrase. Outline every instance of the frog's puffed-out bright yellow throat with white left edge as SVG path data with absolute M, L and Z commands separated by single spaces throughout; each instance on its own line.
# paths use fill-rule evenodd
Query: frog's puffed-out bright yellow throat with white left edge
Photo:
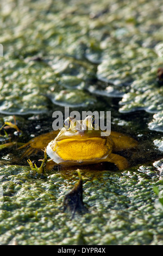
M 65 161 L 88 162 L 102 159 L 110 151 L 106 139 L 99 137 L 52 141 L 47 146 L 47 154 L 56 163 Z

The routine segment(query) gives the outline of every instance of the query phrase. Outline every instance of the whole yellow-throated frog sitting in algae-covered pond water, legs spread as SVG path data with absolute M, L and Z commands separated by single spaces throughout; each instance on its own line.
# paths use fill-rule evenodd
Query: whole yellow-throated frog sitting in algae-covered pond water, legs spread
M 51 160 L 61 166 L 110 162 L 122 170 L 128 168 L 129 163 L 116 152 L 136 148 L 137 141 L 116 131 L 102 133 L 99 126 L 95 127 L 95 119 L 88 116 L 84 120 L 68 117 L 59 132 L 52 131 L 40 135 L 23 147 L 27 145 L 30 145 L 30 148 L 26 155 L 32 154 L 34 150 L 46 148 Z

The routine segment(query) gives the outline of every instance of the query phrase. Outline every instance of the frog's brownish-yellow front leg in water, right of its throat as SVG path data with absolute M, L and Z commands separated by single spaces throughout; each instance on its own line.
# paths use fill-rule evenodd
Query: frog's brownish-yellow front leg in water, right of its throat
M 116 164 L 119 170 L 126 169 L 129 167 L 128 161 L 126 158 L 116 154 L 110 154 L 106 159 L 105 162 L 110 162 Z

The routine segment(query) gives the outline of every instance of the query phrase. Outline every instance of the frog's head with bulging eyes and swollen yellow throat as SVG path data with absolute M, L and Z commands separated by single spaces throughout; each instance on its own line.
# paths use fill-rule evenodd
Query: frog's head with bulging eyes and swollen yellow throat
M 56 163 L 83 163 L 108 156 L 111 148 L 111 141 L 101 136 L 95 117 L 89 115 L 84 120 L 68 117 L 58 136 L 48 144 L 47 154 Z

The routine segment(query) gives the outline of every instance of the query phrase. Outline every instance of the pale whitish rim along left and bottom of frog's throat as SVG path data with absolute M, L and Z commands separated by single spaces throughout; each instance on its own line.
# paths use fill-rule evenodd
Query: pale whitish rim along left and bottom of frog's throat
M 104 157 L 102 157 L 101 159 L 92 159 L 92 160 L 67 160 L 65 161 L 64 159 L 61 159 L 61 157 L 55 152 L 52 150 L 51 148 L 51 145 L 52 145 L 52 142 L 49 142 L 49 144 L 47 145 L 47 148 L 46 148 L 46 152 L 48 154 L 48 156 L 57 164 L 64 164 L 64 165 L 78 165 L 78 164 L 91 164 L 91 163 L 95 163 L 96 161 L 98 162 L 99 160 L 102 162 L 102 160 L 105 160 L 107 157 L 108 157 L 108 154 L 105 155 Z

